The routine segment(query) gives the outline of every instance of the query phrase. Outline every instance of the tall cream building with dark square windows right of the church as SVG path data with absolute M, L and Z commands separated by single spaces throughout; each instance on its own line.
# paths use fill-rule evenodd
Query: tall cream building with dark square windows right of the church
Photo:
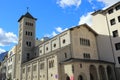
M 100 34 L 98 49 L 100 59 L 115 62 L 116 74 L 120 75 L 120 1 L 105 10 L 92 14 L 92 28 Z M 103 47 L 104 46 L 104 47 Z M 108 55 L 108 56 L 107 56 Z M 120 80 L 120 78 L 118 78 Z

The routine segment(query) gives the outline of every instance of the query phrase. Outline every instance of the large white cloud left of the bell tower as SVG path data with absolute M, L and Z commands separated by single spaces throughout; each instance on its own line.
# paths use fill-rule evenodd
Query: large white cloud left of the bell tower
M 0 46 L 8 46 L 11 43 L 17 43 L 18 38 L 12 32 L 5 32 L 2 28 L 0 28 Z

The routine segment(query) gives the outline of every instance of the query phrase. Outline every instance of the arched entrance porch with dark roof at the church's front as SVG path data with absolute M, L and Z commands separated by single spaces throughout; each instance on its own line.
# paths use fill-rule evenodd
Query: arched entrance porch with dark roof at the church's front
M 60 80 L 116 80 L 111 63 L 71 59 L 62 64 L 63 77 Z

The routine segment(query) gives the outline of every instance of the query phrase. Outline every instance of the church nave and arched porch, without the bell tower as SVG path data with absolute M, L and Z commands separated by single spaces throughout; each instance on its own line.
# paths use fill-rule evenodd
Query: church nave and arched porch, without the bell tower
M 97 71 L 100 65 L 106 75 L 106 67 L 103 66 L 110 65 L 112 79 L 115 80 L 114 64 L 99 61 L 96 36 L 96 32 L 83 24 L 41 43 L 35 49 L 39 56 L 22 64 L 21 80 L 77 80 L 78 77 L 100 80 L 100 71 L 95 77 L 90 76 L 95 75 L 94 68 Z M 90 66 L 93 66 L 91 72 Z M 108 77 L 105 76 L 106 80 Z

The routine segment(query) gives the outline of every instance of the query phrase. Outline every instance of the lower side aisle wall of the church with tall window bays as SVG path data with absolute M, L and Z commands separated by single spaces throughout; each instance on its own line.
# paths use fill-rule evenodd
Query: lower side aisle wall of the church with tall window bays
M 22 80 L 58 80 L 56 55 L 39 57 L 22 65 Z

